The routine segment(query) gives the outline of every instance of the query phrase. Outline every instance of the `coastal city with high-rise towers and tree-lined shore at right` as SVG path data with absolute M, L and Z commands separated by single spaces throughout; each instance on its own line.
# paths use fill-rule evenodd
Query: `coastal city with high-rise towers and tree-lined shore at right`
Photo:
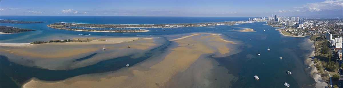
M 329 88 L 343 87 L 342 18 L 272 17 L 249 18 L 249 21 L 267 21 L 267 25 L 278 27 L 285 36 L 303 37 L 311 35 L 315 50 L 312 61 L 322 81 Z

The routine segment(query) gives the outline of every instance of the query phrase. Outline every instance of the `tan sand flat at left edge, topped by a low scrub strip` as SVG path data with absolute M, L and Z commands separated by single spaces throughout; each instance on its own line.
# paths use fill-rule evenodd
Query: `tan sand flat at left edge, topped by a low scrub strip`
M 78 38 L 76 38 L 78 39 Z M 82 38 L 84 39 L 84 38 Z M 87 39 L 87 38 L 85 38 Z M 94 39 L 94 38 L 89 38 Z M 101 49 L 102 46 L 94 47 L 93 45 L 108 45 L 127 43 L 125 46 L 121 45 L 123 49 L 128 46 L 135 49 L 146 49 L 149 46 L 154 46 L 154 43 L 141 42 L 141 41 L 152 41 L 151 39 L 140 39 L 139 38 L 99 38 L 98 41 L 94 40 L 91 42 L 67 42 L 67 43 L 46 43 L 32 45 L 30 43 L 0 43 L 1 52 L 14 53 L 16 55 L 31 56 L 31 57 L 44 57 L 44 58 L 62 58 L 70 57 L 78 54 L 83 54 L 91 51 Z M 136 41 L 133 41 L 136 40 Z M 140 43 L 138 43 L 140 42 Z M 53 46 L 53 47 L 52 47 Z M 108 47 L 111 49 L 110 47 Z

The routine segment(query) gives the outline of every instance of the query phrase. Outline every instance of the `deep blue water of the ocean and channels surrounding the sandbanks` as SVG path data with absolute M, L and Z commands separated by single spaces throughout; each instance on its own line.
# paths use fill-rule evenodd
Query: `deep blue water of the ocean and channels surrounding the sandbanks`
M 108 18 L 108 19 L 107 19 Z M 313 48 L 311 44 L 307 42 L 309 36 L 294 38 L 287 37 L 279 34 L 279 31 L 274 30 L 265 24 L 265 22 L 248 23 L 243 25 L 221 25 L 210 27 L 191 27 L 191 28 L 143 28 L 149 30 L 149 32 L 129 32 L 129 33 L 104 33 L 104 32 L 83 32 L 83 31 L 69 31 L 52 29 L 46 27 L 47 24 L 66 21 L 77 23 L 96 23 L 96 24 L 162 24 L 162 23 L 199 23 L 199 22 L 218 22 L 218 21 L 239 21 L 247 20 L 248 17 L 116 17 L 116 16 L 0 16 L 0 19 L 12 19 L 12 20 L 25 20 L 25 21 L 48 21 L 47 23 L 37 24 L 6 24 L 1 23 L 1 26 L 10 26 L 18 28 L 36 29 L 37 31 L 15 33 L 15 34 L 0 34 L 1 43 L 27 43 L 33 41 L 47 41 L 54 39 L 72 39 L 79 37 L 112 37 L 112 36 L 124 36 L 124 37 L 143 37 L 143 36 L 162 36 L 163 38 L 173 39 L 165 37 L 168 35 L 185 34 L 185 33 L 220 33 L 224 36 L 224 39 L 232 39 L 241 41 L 242 44 L 236 47 L 242 52 L 237 54 L 215 58 L 215 61 L 220 63 L 218 67 L 225 67 L 229 70 L 228 74 L 234 74 L 238 77 L 236 82 L 228 83 L 232 84 L 231 87 L 285 87 L 284 82 L 287 82 L 291 87 L 302 87 L 302 85 L 311 85 L 315 83 L 315 80 L 311 78 L 306 72 L 304 60 Z M 110 20 L 109 20 L 110 19 Z M 144 21 L 145 20 L 145 21 Z M 257 32 L 238 32 L 237 30 L 243 28 L 252 28 Z M 234 30 L 232 30 L 234 29 Z M 266 31 L 263 31 L 266 30 Z M 89 36 L 79 34 L 91 34 Z M 250 41 L 251 39 L 251 41 Z M 149 59 L 150 56 L 158 55 L 164 51 L 164 48 L 168 47 L 170 42 L 166 42 L 164 47 L 153 49 L 144 59 Z M 308 46 L 300 46 L 300 45 Z M 271 49 L 268 51 L 268 47 Z M 261 56 L 257 56 L 258 50 L 260 50 Z M 254 58 L 248 58 L 247 55 L 253 55 Z M 283 57 L 283 59 L 279 59 Z M 80 57 L 82 58 L 82 57 Z M 110 59 L 118 60 L 118 58 Z M 140 62 L 142 60 L 137 60 Z M 106 63 L 106 61 L 104 61 Z M 108 61 L 107 61 L 108 62 Z M 120 62 L 120 61 L 119 61 Z M 136 62 L 136 63 L 137 63 Z M 95 69 L 107 69 L 108 67 L 101 65 L 100 62 L 88 67 L 82 67 L 75 70 L 61 71 L 61 74 L 56 74 L 56 77 L 49 77 L 49 73 L 59 73 L 58 71 L 43 70 L 31 67 L 23 67 L 20 64 L 16 64 L 17 71 L 29 72 L 31 74 L 19 74 L 11 70 L 5 56 L 1 56 L 1 77 L 6 76 L 13 77 L 13 79 L 20 79 L 17 82 L 25 81 L 25 79 L 31 77 L 37 77 L 42 80 L 60 80 L 68 77 L 73 77 L 81 74 L 88 73 L 101 73 L 107 71 L 113 71 L 116 69 L 99 71 Z M 13 63 L 15 64 L 15 63 Z M 104 64 L 104 63 L 102 63 Z M 135 63 L 131 63 L 135 64 Z M 130 65 L 131 65 L 130 64 Z M 108 64 L 111 65 L 111 64 Z M 13 65 L 12 65 L 13 66 Z M 120 69 L 125 66 L 117 66 Z M 83 70 L 87 69 L 87 70 Z M 291 71 L 293 74 L 288 75 L 286 71 Z M 39 72 L 40 75 L 33 75 Z M 66 74 L 62 74 L 66 73 Z M 5 74 L 3 74 L 5 73 Z M 255 80 L 254 75 L 258 75 L 260 80 Z M 3 80 L 3 79 L 1 79 Z M 216 80 L 220 81 L 220 80 Z M 4 81 L 1 81 L 1 87 L 15 87 L 15 86 L 3 86 Z M 9 82 L 10 83 L 10 82 Z M 13 83 L 13 82 L 12 82 Z M 222 85 L 228 85 L 222 84 Z M 314 87 L 314 86 L 310 86 Z

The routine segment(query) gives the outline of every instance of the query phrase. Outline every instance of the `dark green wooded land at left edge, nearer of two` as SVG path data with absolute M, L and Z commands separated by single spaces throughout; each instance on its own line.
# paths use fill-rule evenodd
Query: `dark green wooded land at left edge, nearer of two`
M 7 26 L 0 26 L 0 32 L 4 32 L 4 33 L 17 33 L 17 32 L 26 32 L 26 31 L 34 31 L 34 30 L 32 30 L 32 29 L 7 27 Z

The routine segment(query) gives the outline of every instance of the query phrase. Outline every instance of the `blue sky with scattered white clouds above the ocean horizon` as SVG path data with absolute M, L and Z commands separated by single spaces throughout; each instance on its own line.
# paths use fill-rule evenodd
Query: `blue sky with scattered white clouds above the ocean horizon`
M 0 15 L 224 16 L 343 15 L 343 0 L 1 0 Z

